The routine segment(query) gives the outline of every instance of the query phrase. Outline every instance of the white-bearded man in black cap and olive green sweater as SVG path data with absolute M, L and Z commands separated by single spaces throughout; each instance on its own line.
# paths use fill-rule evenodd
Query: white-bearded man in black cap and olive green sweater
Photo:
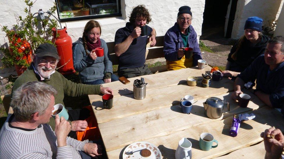
M 38 46 L 33 56 L 33 62 L 27 68 L 27 70 L 17 78 L 13 84 L 12 98 L 15 90 L 24 83 L 29 81 L 41 81 L 48 85 L 52 85 L 58 92 L 55 98 L 55 104 L 63 104 L 64 95 L 71 97 L 78 97 L 88 94 L 112 94 L 112 90 L 109 87 L 102 87 L 102 85 L 85 85 L 80 83 L 74 83 L 66 79 L 62 74 L 57 72 L 56 65 L 59 61 L 59 56 L 56 47 L 49 43 L 44 43 Z M 69 121 L 71 123 L 70 137 L 76 137 L 76 131 L 84 131 L 88 124 L 81 119 L 82 114 L 88 114 L 88 110 L 74 109 L 69 110 Z M 88 117 L 88 116 L 87 116 Z M 50 119 L 49 125 L 54 129 L 55 121 Z

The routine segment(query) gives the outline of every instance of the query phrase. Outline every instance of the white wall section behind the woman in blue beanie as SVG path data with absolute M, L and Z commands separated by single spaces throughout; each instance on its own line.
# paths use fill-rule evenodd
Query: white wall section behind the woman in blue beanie
M 248 17 L 258 16 L 263 19 L 263 26 L 270 26 L 276 20 L 279 7 L 283 4 L 282 1 L 239 0 L 231 38 L 238 39 L 244 34 L 244 24 Z

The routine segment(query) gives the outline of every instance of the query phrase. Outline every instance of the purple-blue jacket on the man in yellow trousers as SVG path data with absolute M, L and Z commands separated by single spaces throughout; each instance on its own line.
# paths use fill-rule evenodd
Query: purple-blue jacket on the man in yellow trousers
M 197 41 L 197 34 L 194 28 L 189 25 L 190 34 L 188 36 L 188 44 L 189 47 L 193 48 L 193 66 L 197 65 L 197 61 L 202 59 L 201 52 L 199 49 L 198 41 Z M 170 28 L 164 38 L 164 54 L 165 59 L 168 61 L 177 61 L 182 58 L 177 58 L 177 50 L 180 47 L 184 47 L 182 42 L 182 37 L 180 35 L 179 26 L 177 23 Z

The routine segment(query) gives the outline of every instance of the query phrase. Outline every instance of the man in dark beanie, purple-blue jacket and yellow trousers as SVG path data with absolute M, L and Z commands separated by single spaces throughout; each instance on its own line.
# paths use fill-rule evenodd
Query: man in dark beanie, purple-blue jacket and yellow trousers
M 164 38 L 164 54 L 168 71 L 196 66 L 197 61 L 202 59 L 197 34 L 191 26 L 190 7 L 182 6 L 178 11 L 177 22 L 166 32 Z M 185 47 L 193 49 L 193 56 L 189 59 L 184 56 Z

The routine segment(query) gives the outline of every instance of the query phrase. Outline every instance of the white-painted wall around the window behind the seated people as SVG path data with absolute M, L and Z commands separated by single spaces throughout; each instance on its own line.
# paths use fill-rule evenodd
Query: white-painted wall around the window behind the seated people
M 2 26 L 7 25 L 9 28 L 12 28 L 12 25 L 16 22 L 14 14 L 24 15 L 23 10 L 25 8 L 25 4 L 23 1 L 24 0 L 1 0 L 2 9 L 0 10 L 0 24 Z M 33 12 L 37 12 L 38 9 L 47 11 L 53 6 L 53 2 L 54 0 L 37 0 L 34 4 Z M 125 26 L 125 23 L 128 22 L 128 16 L 130 15 L 132 8 L 140 4 L 144 4 L 152 15 L 152 21 L 149 23 L 149 26 L 156 29 L 157 36 L 163 36 L 166 31 L 174 25 L 176 22 L 178 8 L 184 5 L 190 6 L 194 18 L 191 25 L 194 27 L 199 39 L 203 23 L 205 0 L 121 0 L 122 17 L 96 19 L 102 28 L 101 38 L 106 42 L 114 41 L 116 30 Z M 55 16 L 57 17 L 57 15 Z M 87 22 L 88 20 L 66 22 L 62 23 L 62 26 L 67 27 L 67 32 L 74 42 L 82 36 L 84 26 Z M 8 47 L 8 40 L 5 36 L 4 32 L 0 32 L 1 47 Z M 13 68 L 0 70 L 0 76 L 5 77 L 12 73 Z

